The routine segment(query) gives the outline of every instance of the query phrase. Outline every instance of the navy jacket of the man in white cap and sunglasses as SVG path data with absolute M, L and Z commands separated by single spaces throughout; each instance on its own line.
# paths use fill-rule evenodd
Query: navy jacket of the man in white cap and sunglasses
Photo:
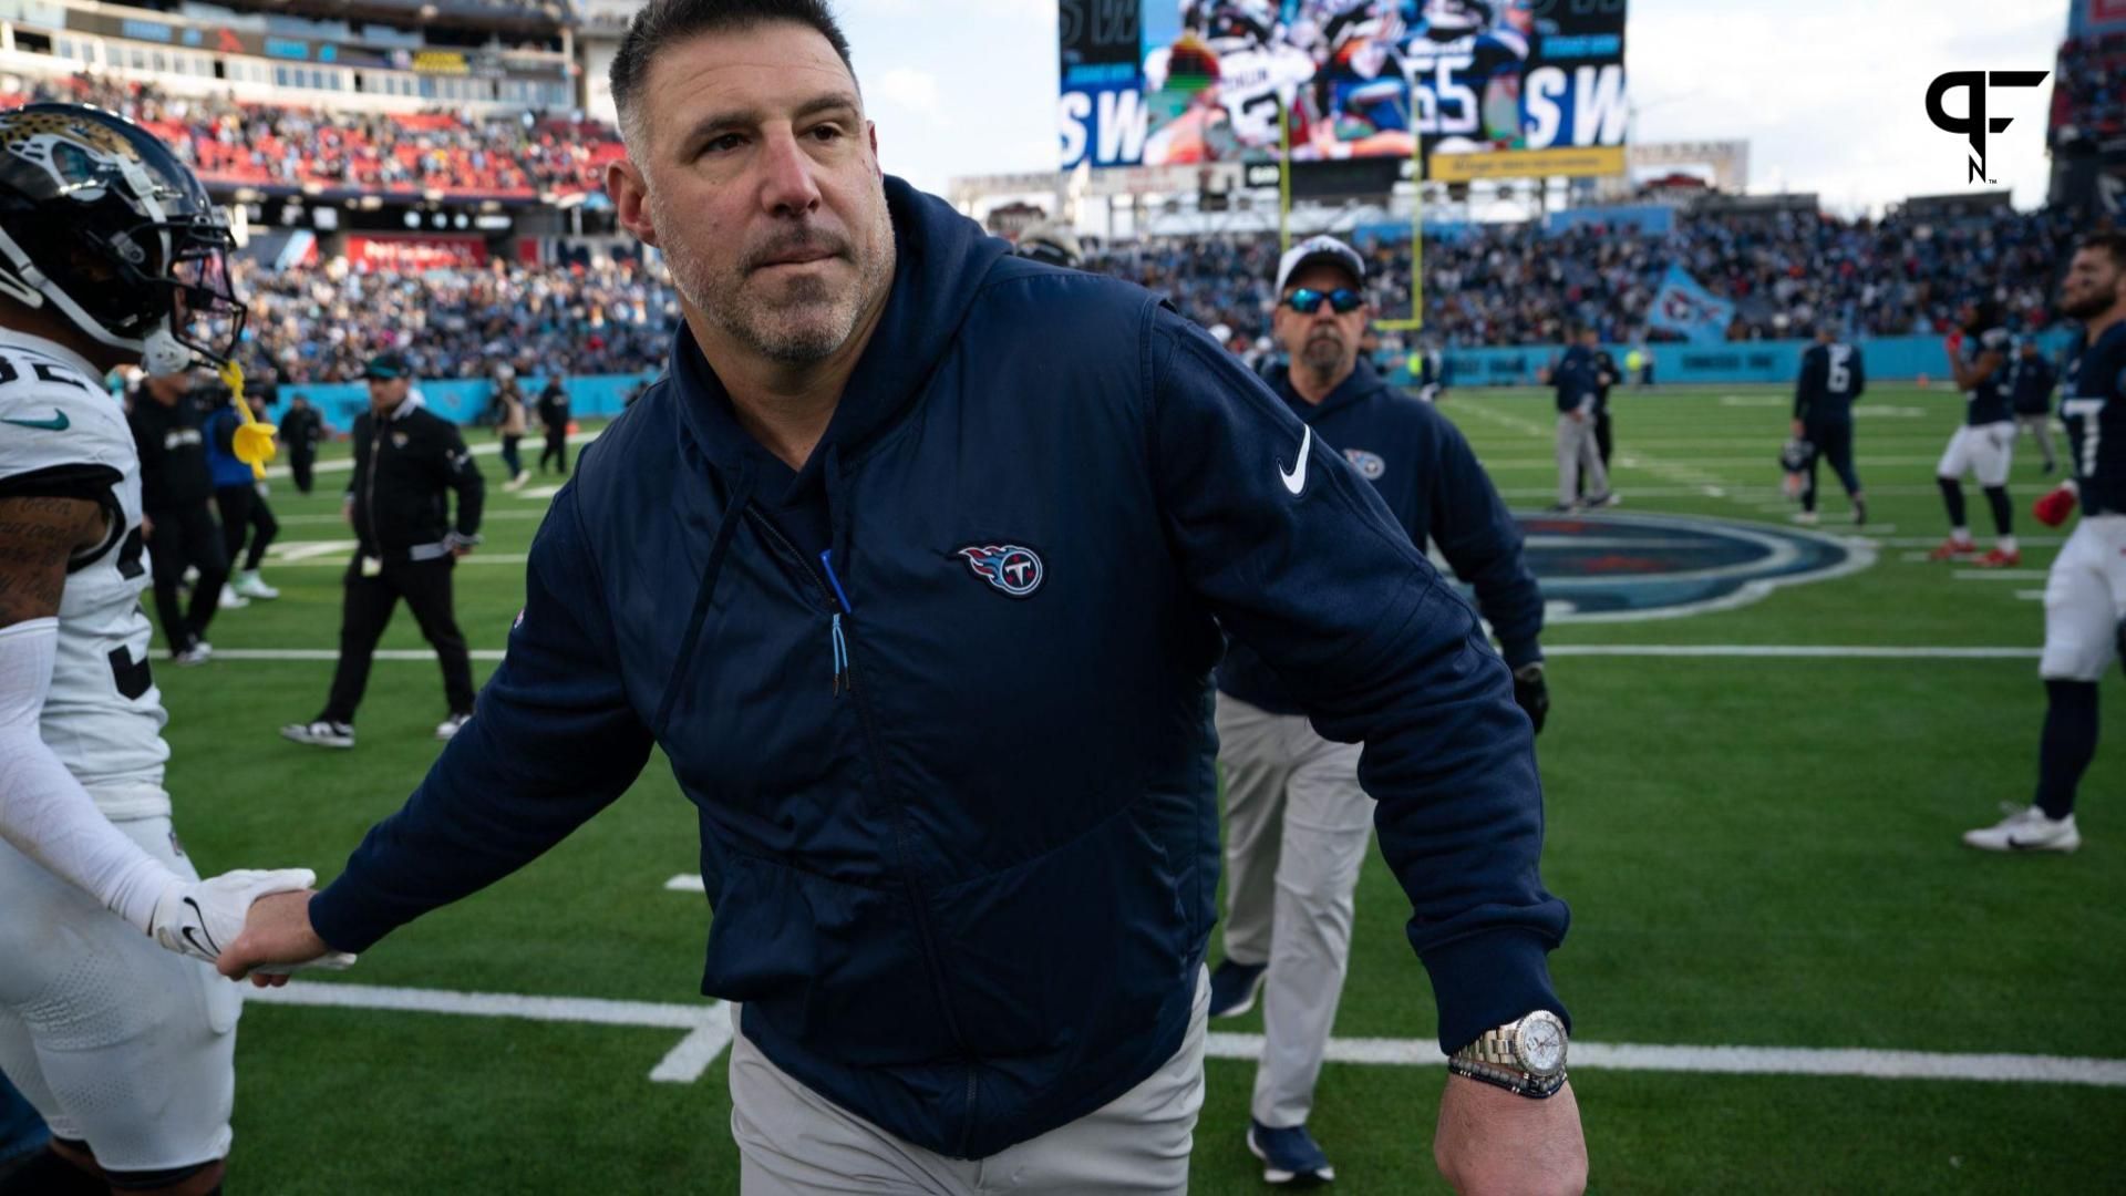
M 1316 436 L 1373 483 L 1418 549 L 1437 545 L 1454 575 L 1475 587 L 1475 604 L 1490 619 L 1507 666 L 1541 660 L 1543 592 L 1520 555 L 1520 526 L 1461 430 L 1363 360 L 1318 406 L 1293 389 L 1282 366 L 1269 383 Z M 1218 690 L 1273 715 L 1305 713 L 1263 655 L 1244 643 L 1231 645 L 1218 664 Z

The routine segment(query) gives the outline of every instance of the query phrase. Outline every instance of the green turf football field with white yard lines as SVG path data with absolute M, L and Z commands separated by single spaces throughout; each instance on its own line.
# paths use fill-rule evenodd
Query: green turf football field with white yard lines
M 1548 396 L 1458 392 L 1444 411 L 1516 511 L 1550 502 Z M 1786 524 L 1775 487 L 1784 392 L 1620 389 L 1614 411 L 1620 515 Z M 2105 681 L 2105 745 L 2083 787 L 2077 856 L 1994 858 L 1958 843 L 1996 817 L 1996 802 L 2028 800 L 2043 715 L 2026 655 L 2043 638 L 2032 594 L 2062 538 L 2028 517 L 2049 483 L 2024 443 L 2013 481 L 2022 570 L 1979 577 L 1911 560 L 1945 530 L 1933 466 L 1960 411 L 1941 387 L 1869 392 L 1858 423 L 1875 515 L 1862 530 L 1867 568 L 1731 611 L 1565 621 L 1546 634 L 1543 875 L 1573 907 L 1552 970 L 1575 1049 L 1588 1045 L 1573 1087 L 1594 1192 L 2126 1192 L 2126 690 L 2120 672 Z M 474 445 L 491 438 L 476 432 Z M 493 479 L 495 460 L 480 460 Z M 157 662 L 176 824 L 202 870 L 308 864 L 330 879 L 440 747 L 442 692 L 425 660 L 376 664 L 355 751 L 276 736 L 317 713 L 330 679 L 349 555 L 342 481 L 323 472 L 313 498 L 279 483 L 281 553 L 317 555 L 276 553 L 266 577 L 283 598 L 223 613 L 210 634 L 221 660 Z M 1824 481 L 1822 530 L 1852 534 L 1828 470 Z M 1975 487 L 1971 504 L 1984 532 Z M 544 498 L 491 489 L 489 511 L 487 545 L 457 583 L 472 647 L 493 653 Z M 1597 645 L 1612 653 L 1569 651 Z M 1629 651 L 1652 645 L 1707 653 Z M 410 617 L 385 647 L 421 647 Z M 1873 653 L 1722 651 L 1735 647 Z M 2024 655 L 1879 653 L 1892 647 Z M 240 660 L 240 649 L 319 658 Z M 480 677 L 491 668 L 491 655 L 476 662 Z M 697 1013 L 708 911 L 699 894 L 665 890 L 695 870 L 693 815 L 653 762 L 634 794 L 551 858 L 404 928 L 344 977 L 302 981 L 334 985 L 323 998 L 340 1004 L 374 1004 L 376 992 L 347 990 L 383 985 L 459 1011 L 253 1004 L 230 1192 L 736 1190 L 721 1060 L 691 1083 L 651 1079 L 702 1068 L 685 1043 L 714 1047 L 714 1013 Z M 1339 1041 L 1431 1039 L 1405 915 L 1371 860 Z M 495 1017 L 502 1002 L 451 994 L 629 1004 L 561 1000 Z M 1212 1028 L 1252 1034 L 1261 1019 Z M 2003 1053 L 2109 1068 L 2088 1068 L 2105 1083 L 1869 1079 L 1850 1056 L 1741 1058 L 1741 1070 L 1716 1073 L 1716 1056 L 1675 1051 L 1663 1056 L 1671 1070 L 1641 1070 L 1614 1066 L 1643 1058 L 1629 1051 L 1603 1066 L 1597 1045 L 1926 1051 L 1958 1056 L 1967 1075 L 2005 1075 L 2007 1062 L 1969 1060 Z M 1263 1187 L 1242 1145 L 1250 1083 L 1252 1064 L 1210 1062 L 1197 1192 Z M 1335 1187 L 1444 1190 L 1431 1162 L 1439 1085 L 1433 1064 L 1331 1062 L 1312 1130 L 1337 1166 Z

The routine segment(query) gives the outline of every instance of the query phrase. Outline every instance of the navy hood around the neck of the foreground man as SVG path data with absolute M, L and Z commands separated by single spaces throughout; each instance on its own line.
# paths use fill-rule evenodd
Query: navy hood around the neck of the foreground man
M 887 177 L 887 211 L 893 217 L 895 247 L 887 311 L 848 377 L 827 434 L 797 470 L 784 502 L 821 485 L 829 449 L 842 460 L 855 458 L 916 400 L 952 345 L 989 268 L 1010 253 L 1008 243 L 895 177 Z M 738 423 L 729 392 L 685 321 L 672 347 L 670 377 L 680 419 L 695 443 L 719 470 L 740 470 L 759 445 Z

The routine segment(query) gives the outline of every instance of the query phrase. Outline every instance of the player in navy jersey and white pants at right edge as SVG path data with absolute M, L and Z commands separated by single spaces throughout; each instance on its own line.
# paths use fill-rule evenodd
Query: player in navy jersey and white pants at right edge
M 2126 632 L 2126 234 L 2103 232 L 2075 249 L 2060 311 L 2081 321 L 2060 402 L 2073 479 L 2041 498 L 2035 515 L 2056 528 L 2079 502 L 2081 526 L 2045 581 L 2037 800 L 1964 834 L 1986 851 L 2081 847 L 2075 787 L 2096 758 L 2096 681 Z

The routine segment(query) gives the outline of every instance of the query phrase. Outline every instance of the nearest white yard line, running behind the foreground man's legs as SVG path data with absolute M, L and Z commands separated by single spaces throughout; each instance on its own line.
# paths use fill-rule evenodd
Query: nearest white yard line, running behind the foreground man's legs
M 659 1083 L 693 1083 L 702 1079 L 716 1056 L 731 1045 L 733 1032 L 731 1009 L 723 1002 L 653 1004 L 578 996 L 512 996 L 304 981 L 268 990 L 247 987 L 244 996 L 259 1004 L 306 1009 L 455 1013 L 461 1017 L 685 1030 L 687 1036 L 651 1070 L 651 1079 Z M 1256 1060 L 1263 1053 L 1263 1036 L 1208 1034 L 1205 1053 L 1218 1060 Z M 1439 1045 L 1429 1039 L 1331 1039 L 1327 1058 L 1344 1064 L 1386 1066 L 1439 1066 L 1446 1060 L 1439 1053 Z M 1575 1070 L 1962 1079 L 2126 1087 L 2126 1060 L 2073 1056 L 1573 1043 L 1571 1066 Z

